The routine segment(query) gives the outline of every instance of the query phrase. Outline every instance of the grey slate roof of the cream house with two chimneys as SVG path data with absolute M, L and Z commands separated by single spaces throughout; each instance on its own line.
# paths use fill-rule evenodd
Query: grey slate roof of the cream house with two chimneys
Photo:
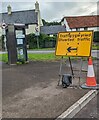
M 3 21 L 6 24 L 34 24 L 37 23 L 37 13 L 35 10 L 15 11 L 11 15 L 8 13 L 0 13 L 0 23 Z

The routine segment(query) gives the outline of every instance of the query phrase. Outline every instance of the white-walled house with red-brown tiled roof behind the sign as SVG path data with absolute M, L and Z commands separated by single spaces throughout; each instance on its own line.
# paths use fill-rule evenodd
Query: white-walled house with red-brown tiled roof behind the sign
M 94 30 L 99 31 L 99 15 L 64 17 L 61 24 L 66 31 Z

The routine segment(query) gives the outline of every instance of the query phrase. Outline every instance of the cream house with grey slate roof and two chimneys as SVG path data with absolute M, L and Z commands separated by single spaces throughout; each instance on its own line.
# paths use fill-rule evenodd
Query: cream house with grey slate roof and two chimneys
M 39 3 L 36 1 L 35 9 L 24 11 L 12 11 L 11 6 L 7 7 L 7 12 L 0 13 L 0 31 L 2 31 L 2 24 L 25 24 L 26 34 L 35 33 L 35 28 L 38 27 L 40 32 L 40 26 L 43 26 L 40 16 Z

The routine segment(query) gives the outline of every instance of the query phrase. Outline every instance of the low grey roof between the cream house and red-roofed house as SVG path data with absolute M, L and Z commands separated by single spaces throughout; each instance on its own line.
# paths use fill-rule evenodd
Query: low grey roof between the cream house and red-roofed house
M 43 34 L 57 34 L 58 32 L 66 31 L 64 26 L 61 25 L 53 25 L 53 26 L 41 26 L 41 33 Z

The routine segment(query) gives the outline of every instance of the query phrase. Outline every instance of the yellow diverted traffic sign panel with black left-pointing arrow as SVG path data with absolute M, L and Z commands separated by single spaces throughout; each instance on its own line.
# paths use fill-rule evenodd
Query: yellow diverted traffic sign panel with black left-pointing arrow
M 59 32 L 56 55 L 90 56 L 93 31 Z

